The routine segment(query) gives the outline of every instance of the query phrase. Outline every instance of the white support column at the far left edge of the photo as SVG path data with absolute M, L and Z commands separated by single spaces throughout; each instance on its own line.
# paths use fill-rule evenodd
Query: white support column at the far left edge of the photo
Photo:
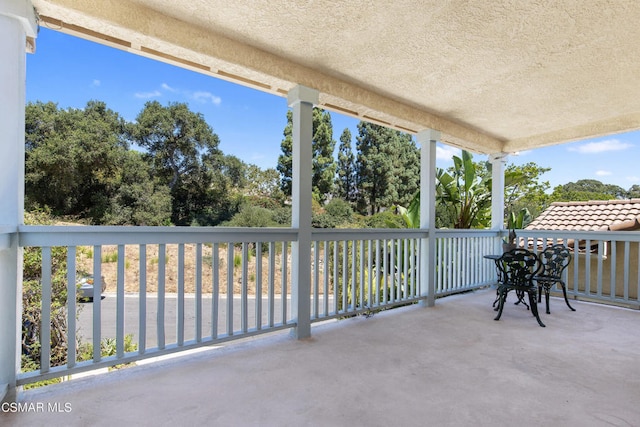
M 27 0 L 0 0 L 0 227 L 17 232 L 24 209 L 24 110 L 27 37 L 36 17 Z M 0 248 L 0 401 L 14 400 L 22 333 L 22 250 Z

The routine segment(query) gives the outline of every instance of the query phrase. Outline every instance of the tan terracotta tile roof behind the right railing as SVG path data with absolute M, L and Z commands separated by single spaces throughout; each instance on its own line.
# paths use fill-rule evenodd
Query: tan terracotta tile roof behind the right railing
M 640 199 L 555 202 L 527 230 L 630 231 L 640 229 Z

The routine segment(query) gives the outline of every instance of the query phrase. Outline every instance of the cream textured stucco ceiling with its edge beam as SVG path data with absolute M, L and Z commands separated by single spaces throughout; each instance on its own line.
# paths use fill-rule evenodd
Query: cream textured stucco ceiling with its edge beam
M 640 128 L 635 0 L 33 4 L 49 28 L 282 96 L 302 84 L 327 109 L 476 152 Z

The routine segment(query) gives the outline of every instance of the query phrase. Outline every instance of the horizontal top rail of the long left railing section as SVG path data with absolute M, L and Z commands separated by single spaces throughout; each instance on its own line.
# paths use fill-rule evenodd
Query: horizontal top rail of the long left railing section
M 295 241 L 293 228 L 20 226 L 20 246 Z

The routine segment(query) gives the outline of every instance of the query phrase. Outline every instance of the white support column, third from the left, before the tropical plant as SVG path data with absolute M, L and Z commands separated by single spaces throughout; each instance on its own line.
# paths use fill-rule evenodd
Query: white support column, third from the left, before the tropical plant
M 420 241 L 420 295 L 427 297 L 428 307 L 433 307 L 436 301 L 436 142 L 439 139 L 440 132 L 431 129 L 416 135 L 420 144 L 420 228 L 429 230 L 429 237 Z

